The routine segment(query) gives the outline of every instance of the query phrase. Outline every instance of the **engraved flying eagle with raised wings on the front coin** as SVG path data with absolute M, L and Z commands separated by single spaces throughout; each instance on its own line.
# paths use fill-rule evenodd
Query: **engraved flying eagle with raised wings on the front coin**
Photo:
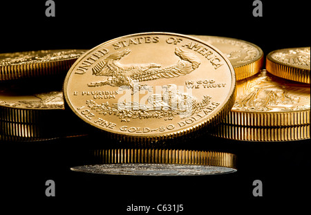
M 180 60 L 175 65 L 167 68 L 161 68 L 161 65 L 154 63 L 121 64 L 119 62 L 120 59 L 129 55 L 129 53 L 131 53 L 129 49 L 117 51 L 106 57 L 102 62 L 96 64 L 92 68 L 92 74 L 96 76 L 107 76 L 108 78 L 100 82 L 92 82 L 88 86 L 128 86 L 133 91 L 134 82 L 187 75 L 196 70 L 200 65 L 200 59 L 196 55 L 181 48 L 176 48 L 174 52 Z

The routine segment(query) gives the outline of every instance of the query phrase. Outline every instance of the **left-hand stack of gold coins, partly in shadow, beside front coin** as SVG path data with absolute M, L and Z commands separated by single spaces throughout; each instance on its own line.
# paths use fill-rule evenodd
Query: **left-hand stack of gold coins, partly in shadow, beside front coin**
M 75 119 L 64 109 L 62 82 L 85 51 L 0 54 L 0 140 L 37 141 L 82 134 L 75 125 L 69 126 Z

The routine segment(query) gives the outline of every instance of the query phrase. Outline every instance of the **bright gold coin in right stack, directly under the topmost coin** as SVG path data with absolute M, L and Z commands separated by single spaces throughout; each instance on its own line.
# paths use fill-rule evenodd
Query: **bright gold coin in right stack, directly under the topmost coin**
M 265 70 L 236 84 L 236 100 L 225 124 L 285 127 L 310 124 L 310 85 Z

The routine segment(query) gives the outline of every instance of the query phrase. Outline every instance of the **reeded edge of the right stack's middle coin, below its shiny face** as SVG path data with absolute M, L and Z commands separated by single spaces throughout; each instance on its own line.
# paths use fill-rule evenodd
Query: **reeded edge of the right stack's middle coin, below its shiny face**
M 233 111 L 225 117 L 224 124 L 252 127 L 285 127 L 310 124 L 310 109 L 279 112 Z

